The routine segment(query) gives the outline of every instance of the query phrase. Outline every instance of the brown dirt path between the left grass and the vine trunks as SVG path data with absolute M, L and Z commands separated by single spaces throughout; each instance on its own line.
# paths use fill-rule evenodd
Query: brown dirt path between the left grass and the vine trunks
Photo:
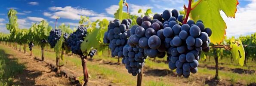
M 14 84 L 20 86 L 70 86 L 72 85 L 67 78 L 57 77 L 45 62 L 37 61 L 34 57 L 22 54 L 13 50 L 17 55 L 10 55 L 9 58 L 18 58 L 25 69 L 21 74 L 15 75 Z

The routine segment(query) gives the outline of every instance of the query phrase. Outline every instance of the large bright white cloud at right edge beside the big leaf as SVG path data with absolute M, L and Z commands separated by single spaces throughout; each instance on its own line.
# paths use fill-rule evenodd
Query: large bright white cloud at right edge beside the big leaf
M 227 18 L 224 12 L 221 12 L 222 18 L 227 24 L 226 35 L 228 37 L 247 35 L 256 32 L 256 0 L 252 0 L 247 6 L 237 7 L 235 18 Z

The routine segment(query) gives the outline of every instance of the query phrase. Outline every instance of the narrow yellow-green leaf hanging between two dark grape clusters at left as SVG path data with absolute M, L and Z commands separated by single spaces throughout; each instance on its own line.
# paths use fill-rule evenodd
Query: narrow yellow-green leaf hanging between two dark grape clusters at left
M 60 53 L 62 51 L 62 40 L 64 40 L 63 34 L 61 38 L 57 41 L 56 45 L 54 46 L 55 54 L 57 57 L 61 56 Z M 61 58 L 63 60 L 63 58 Z

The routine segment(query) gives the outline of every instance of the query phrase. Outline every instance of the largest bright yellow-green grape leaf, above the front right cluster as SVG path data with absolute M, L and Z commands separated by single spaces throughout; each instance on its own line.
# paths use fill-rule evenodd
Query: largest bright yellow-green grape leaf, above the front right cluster
M 198 3 L 201 1 L 200 3 Z M 227 17 L 235 17 L 237 11 L 237 0 L 197 0 L 194 3 L 198 5 L 191 10 L 191 18 L 194 21 L 204 21 L 205 28 L 211 28 L 213 34 L 210 37 L 211 42 L 221 43 L 226 34 L 226 23 L 220 15 L 220 11 L 225 12 Z M 194 7 L 196 4 L 192 4 Z

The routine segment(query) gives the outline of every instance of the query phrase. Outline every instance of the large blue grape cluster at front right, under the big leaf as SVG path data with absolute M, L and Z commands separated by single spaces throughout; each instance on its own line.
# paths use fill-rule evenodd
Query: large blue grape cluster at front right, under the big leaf
M 157 36 L 164 40 L 169 68 L 171 70 L 176 69 L 177 74 L 182 74 L 187 78 L 190 72 L 193 74 L 197 72 L 200 53 L 210 50 L 209 37 L 212 31 L 210 28 L 205 28 L 204 22 L 200 20 L 196 23 L 193 20 L 189 20 L 187 24 L 180 25 L 180 23 L 183 22 L 183 15 L 179 15 L 179 13 L 176 12 L 178 11 L 170 12 L 169 10 L 165 10 L 163 12 L 163 19 L 165 20 L 163 23 L 164 29 L 160 36 Z M 154 39 L 158 39 L 159 41 L 157 37 L 154 37 Z M 149 38 L 148 44 L 150 44 L 149 42 L 151 41 L 152 40 Z M 153 44 L 158 44 L 154 46 L 160 46 L 160 44 L 157 43 L 158 41 L 153 41 Z

